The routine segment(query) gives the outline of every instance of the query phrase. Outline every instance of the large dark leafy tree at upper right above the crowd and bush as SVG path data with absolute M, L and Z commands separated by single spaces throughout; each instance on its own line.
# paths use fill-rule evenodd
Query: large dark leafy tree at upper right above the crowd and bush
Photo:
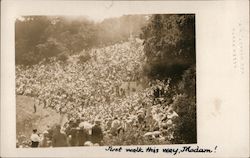
M 184 70 L 195 64 L 194 15 L 153 15 L 141 38 L 148 64 L 145 72 L 150 77 L 178 80 Z

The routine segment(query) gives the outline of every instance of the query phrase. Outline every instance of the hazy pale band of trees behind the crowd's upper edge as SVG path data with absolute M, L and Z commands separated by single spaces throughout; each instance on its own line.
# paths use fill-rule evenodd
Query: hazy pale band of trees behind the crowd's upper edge
M 130 35 L 138 35 L 145 23 L 144 15 L 127 15 L 100 23 L 84 17 L 25 16 L 16 20 L 16 64 L 33 65 L 62 53 L 69 56 L 123 42 Z

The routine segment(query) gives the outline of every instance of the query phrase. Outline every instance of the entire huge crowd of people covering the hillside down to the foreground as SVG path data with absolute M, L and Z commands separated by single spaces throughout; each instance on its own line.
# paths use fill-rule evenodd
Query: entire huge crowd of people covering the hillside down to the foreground
M 169 80 L 150 82 L 143 89 L 121 93 L 124 82 L 145 82 L 145 56 L 141 41 L 92 49 L 86 62 L 61 62 L 16 66 L 16 94 L 36 98 L 36 106 L 67 114 L 64 124 L 44 131 L 33 129 L 31 137 L 17 136 L 17 147 L 61 147 L 161 144 L 173 139 L 178 114 L 168 98 Z M 129 87 L 128 87 L 129 89 Z M 131 136 L 132 137 L 132 136 Z M 145 143 L 144 142 L 144 143 Z

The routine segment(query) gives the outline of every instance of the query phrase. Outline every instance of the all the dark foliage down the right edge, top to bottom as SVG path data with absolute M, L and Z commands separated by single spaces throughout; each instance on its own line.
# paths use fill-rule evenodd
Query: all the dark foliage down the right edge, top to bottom
M 153 15 L 143 28 L 145 73 L 171 78 L 172 107 L 178 113 L 173 143 L 196 143 L 196 70 L 194 15 Z

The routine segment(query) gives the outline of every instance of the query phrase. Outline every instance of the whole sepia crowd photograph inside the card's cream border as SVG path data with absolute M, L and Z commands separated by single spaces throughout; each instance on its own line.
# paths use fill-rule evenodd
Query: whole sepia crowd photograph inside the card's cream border
M 195 17 L 17 17 L 16 148 L 196 144 Z

